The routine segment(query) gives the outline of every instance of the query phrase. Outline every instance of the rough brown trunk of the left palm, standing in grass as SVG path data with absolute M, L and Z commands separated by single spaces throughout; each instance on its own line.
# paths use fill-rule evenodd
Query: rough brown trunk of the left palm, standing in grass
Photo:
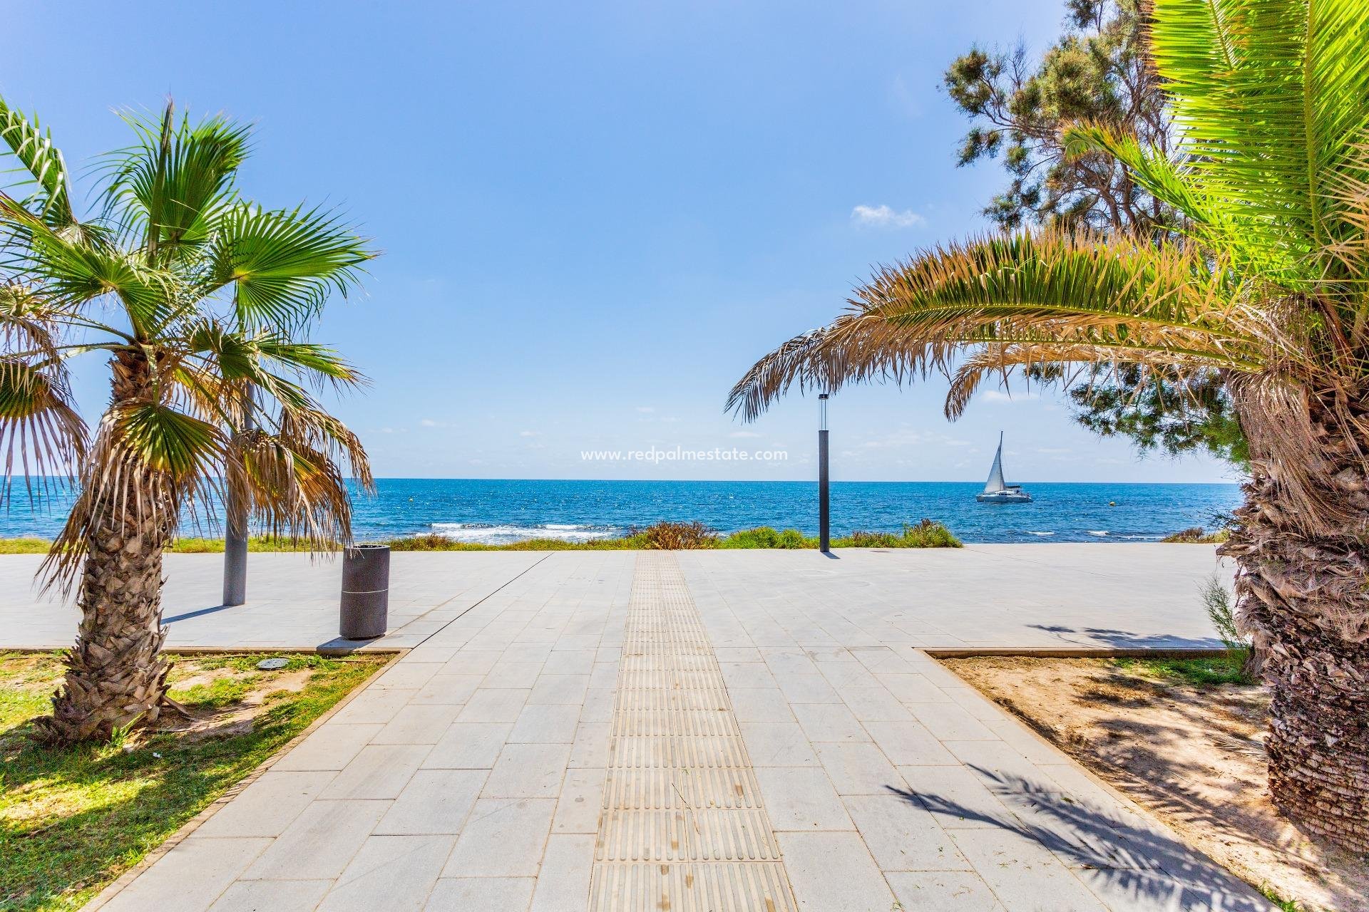
M 144 392 L 145 361 L 120 353 L 111 366 L 115 402 Z M 40 734 L 59 744 L 107 741 L 115 729 L 149 725 L 166 699 L 171 666 L 162 658 L 162 551 L 177 514 L 155 472 L 136 465 L 123 470 L 133 476 L 126 498 L 89 498 L 88 489 L 74 509 L 84 502 L 90 511 L 77 595 L 81 628 L 66 658 L 63 688 L 52 696 L 52 715 L 37 721 Z

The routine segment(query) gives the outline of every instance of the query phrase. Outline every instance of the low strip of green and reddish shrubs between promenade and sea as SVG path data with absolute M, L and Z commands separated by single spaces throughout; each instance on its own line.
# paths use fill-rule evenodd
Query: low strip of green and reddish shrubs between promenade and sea
M 441 535 L 413 535 L 390 539 L 381 544 L 392 551 L 628 551 L 628 550 L 693 550 L 693 548 L 816 548 L 817 536 L 806 536 L 798 529 L 742 529 L 723 535 L 701 522 L 657 522 L 645 529 L 630 531 L 624 536 L 567 541 L 565 539 L 527 539 L 509 544 L 456 541 Z M 902 532 L 853 532 L 832 539 L 835 548 L 960 548 L 964 547 L 950 529 L 941 522 L 923 520 L 905 525 Z M 52 541 L 47 539 L 0 539 L 0 554 L 47 554 Z M 318 546 L 279 536 L 253 536 L 248 551 L 315 551 Z M 168 554 L 222 554 L 223 539 L 175 539 Z

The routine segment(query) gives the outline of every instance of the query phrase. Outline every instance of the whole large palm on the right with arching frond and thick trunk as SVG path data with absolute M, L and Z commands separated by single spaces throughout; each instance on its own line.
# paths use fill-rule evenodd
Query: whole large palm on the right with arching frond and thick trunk
M 1218 371 L 1250 440 L 1224 552 L 1266 655 L 1279 808 L 1369 850 L 1369 3 L 1155 0 L 1179 155 L 1079 124 L 1184 216 L 1181 238 L 1021 232 L 879 269 L 826 328 L 761 358 L 728 407 L 791 386 L 1062 365 Z

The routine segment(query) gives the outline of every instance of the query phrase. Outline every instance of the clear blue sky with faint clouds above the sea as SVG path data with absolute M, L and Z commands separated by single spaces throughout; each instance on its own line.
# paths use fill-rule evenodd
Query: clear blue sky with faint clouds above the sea
M 257 124 L 266 205 L 342 206 L 385 256 L 318 331 L 372 377 L 337 403 L 381 476 L 806 479 L 816 402 L 723 413 L 764 351 L 871 265 L 984 231 L 997 165 L 954 167 L 941 90 L 972 42 L 1042 48 L 1060 0 L 850 3 L 15 3 L 0 93 L 68 161 L 118 107 Z M 103 369 L 78 392 L 103 403 Z M 973 480 L 998 431 L 1020 480 L 1221 481 L 1138 459 L 1054 392 L 945 380 L 832 401 L 832 473 Z M 583 450 L 787 450 L 787 462 L 586 462 Z

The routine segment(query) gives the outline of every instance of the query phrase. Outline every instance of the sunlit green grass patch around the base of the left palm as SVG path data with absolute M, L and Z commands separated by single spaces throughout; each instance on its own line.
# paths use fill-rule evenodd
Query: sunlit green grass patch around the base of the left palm
M 259 671 L 271 656 L 286 666 Z M 270 652 L 172 659 L 171 696 L 193 723 L 122 747 L 56 749 L 27 734 L 51 711 L 62 655 L 0 654 L 0 908 L 81 908 L 386 662 Z

